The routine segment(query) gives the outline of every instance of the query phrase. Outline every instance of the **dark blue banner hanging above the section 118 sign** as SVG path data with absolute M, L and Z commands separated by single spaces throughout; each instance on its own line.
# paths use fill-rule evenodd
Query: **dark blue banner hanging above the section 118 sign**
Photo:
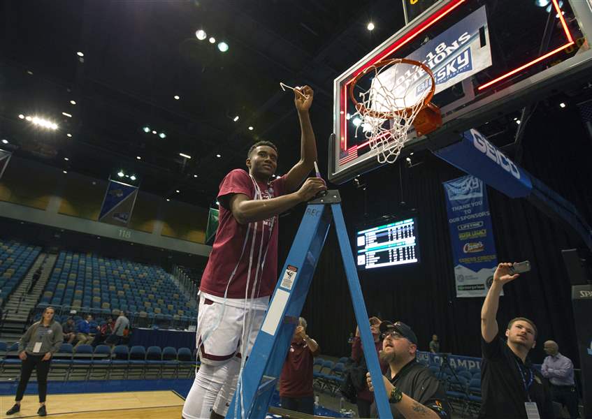
M 138 188 L 109 179 L 107 192 L 101 205 L 99 221 L 114 226 L 127 226 L 136 203 Z

